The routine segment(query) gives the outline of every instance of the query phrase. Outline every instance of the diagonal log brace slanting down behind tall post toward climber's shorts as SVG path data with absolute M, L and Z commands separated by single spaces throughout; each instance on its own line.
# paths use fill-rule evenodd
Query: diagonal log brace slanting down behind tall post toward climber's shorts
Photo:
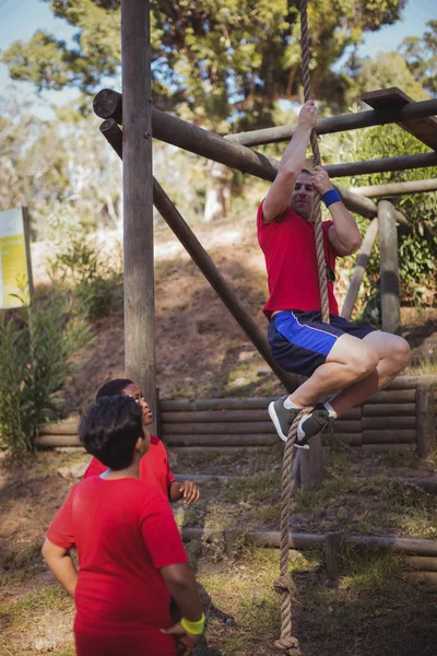
M 122 136 L 125 130 L 121 132 L 120 128 L 114 119 L 105 120 L 101 126 L 101 132 L 104 134 L 106 140 L 114 148 L 116 153 L 122 159 Z M 233 290 L 227 284 L 214 262 L 200 244 L 190 226 L 185 222 L 178 210 L 175 208 L 168 196 L 160 184 L 153 178 L 153 201 L 156 209 L 166 221 L 167 225 L 173 230 L 175 235 L 178 237 L 180 243 L 185 246 L 189 255 L 191 256 L 194 263 L 202 271 L 215 293 L 220 296 L 223 303 L 226 305 L 233 317 L 249 337 L 255 348 L 259 351 L 267 364 L 276 374 L 281 383 L 292 391 L 298 386 L 298 377 L 294 374 L 284 372 L 274 362 L 267 339 L 258 328 L 258 325 L 252 317 L 246 312 L 244 306 L 234 294 Z

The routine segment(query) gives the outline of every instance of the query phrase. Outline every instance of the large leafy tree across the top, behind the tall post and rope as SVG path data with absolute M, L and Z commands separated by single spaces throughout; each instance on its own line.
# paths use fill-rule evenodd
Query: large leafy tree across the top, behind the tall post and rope
M 119 73 L 118 0 L 45 0 L 74 27 L 74 44 L 38 31 L 2 56 L 10 75 L 38 89 L 94 93 Z M 399 20 L 406 0 L 320 0 L 309 5 L 316 95 L 344 103 L 345 73 L 331 67 L 366 31 Z M 297 0 L 158 0 L 152 13 L 154 104 L 228 131 L 271 124 L 280 98 L 300 98 Z

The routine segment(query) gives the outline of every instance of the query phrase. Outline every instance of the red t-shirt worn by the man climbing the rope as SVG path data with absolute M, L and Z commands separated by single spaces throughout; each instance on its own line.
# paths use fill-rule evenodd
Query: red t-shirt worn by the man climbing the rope
M 323 221 L 323 246 L 328 266 L 334 270 L 328 231 L 332 221 Z M 314 224 L 291 208 L 270 223 L 262 222 L 262 203 L 257 214 L 258 242 L 264 254 L 269 300 L 263 311 L 268 318 L 277 309 L 320 311 L 319 268 L 317 265 Z M 328 281 L 330 314 L 338 315 L 333 283 Z

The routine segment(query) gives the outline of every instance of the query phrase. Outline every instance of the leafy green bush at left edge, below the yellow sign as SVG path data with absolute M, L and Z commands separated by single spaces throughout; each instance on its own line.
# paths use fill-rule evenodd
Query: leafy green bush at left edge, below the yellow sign
M 20 319 L 0 323 L 0 444 L 13 459 L 32 450 L 38 426 L 62 415 L 61 402 L 88 327 L 66 294 L 36 295 Z

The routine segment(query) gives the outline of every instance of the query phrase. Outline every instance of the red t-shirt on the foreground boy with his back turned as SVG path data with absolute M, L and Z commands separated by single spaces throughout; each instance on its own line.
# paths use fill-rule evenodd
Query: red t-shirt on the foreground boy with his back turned
M 170 595 L 158 570 L 187 555 L 161 492 L 135 478 L 91 477 L 71 490 L 47 538 L 78 550 L 75 633 L 126 634 L 127 645 L 149 634 L 155 649 L 144 653 L 176 656 L 174 639 L 160 632 L 169 625 Z

